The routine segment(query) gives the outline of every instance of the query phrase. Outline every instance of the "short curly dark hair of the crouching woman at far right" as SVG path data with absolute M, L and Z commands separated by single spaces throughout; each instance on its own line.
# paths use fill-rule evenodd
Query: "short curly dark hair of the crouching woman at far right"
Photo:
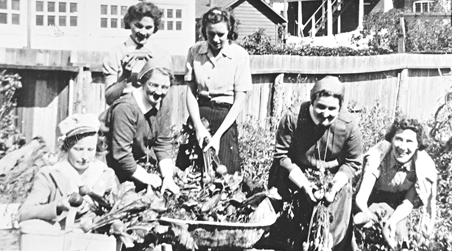
M 427 147 L 426 146 L 427 136 L 425 135 L 425 131 L 422 124 L 419 121 L 417 121 L 417 119 L 406 117 L 395 118 L 394 122 L 391 124 L 391 127 L 386 132 L 385 140 L 388 142 L 392 142 L 392 138 L 394 138 L 395 134 L 399 130 L 408 130 L 408 129 L 416 133 L 418 149 L 420 151 L 424 150 Z

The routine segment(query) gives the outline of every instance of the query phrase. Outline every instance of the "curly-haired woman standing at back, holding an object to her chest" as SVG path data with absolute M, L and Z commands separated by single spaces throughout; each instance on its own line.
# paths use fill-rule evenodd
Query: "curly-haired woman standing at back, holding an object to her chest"
M 103 60 L 108 105 L 140 86 L 137 75 L 150 58 L 159 56 L 171 65 L 169 54 L 149 41 L 159 30 L 161 17 L 162 11 L 149 2 L 129 7 L 124 23 L 125 29 L 130 29 L 132 34 L 126 42 L 110 50 Z

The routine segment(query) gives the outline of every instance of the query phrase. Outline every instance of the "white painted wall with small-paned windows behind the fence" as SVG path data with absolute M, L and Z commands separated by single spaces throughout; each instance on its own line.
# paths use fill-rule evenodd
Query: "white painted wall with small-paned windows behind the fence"
M 61 0 L 67 3 L 66 13 L 58 12 L 59 0 L 42 0 L 44 2 L 43 12 L 36 11 L 36 1 L 30 0 L 31 8 L 27 0 L 20 0 L 20 10 L 12 10 L 12 0 L 7 0 L 7 9 L 0 9 L 1 13 L 8 15 L 7 24 L 0 24 L 0 47 L 51 50 L 86 50 L 107 51 L 117 44 L 124 42 L 130 35 L 130 30 L 120 28 L 121 6 L 129 7 L 137 4 L 137 0 Z M 55 12 L 47 12 L 47 2 L 55 2 Z M 163 21 L 182 22 L 180 31 L 168 31 L 165 22 L 164 30 L 153 34 L 151 41 L 157 45 L 167 48 L 172 55 L 186 55 L 188 48 L 195 43 L 195 4 L 193 0 L 154 0 L 152 1 L 165 14 Z M 77 13 L 69 13 L 69 4 L 77 3 Z M 100 15 L 100 6 L 108 6 L 108 15 Z M 118 6 L 118 27 L 100 28 L 100 19 L 108 18 L 110 24 L 110 7 Z M 167 10 L 181 10 L 181 19 L 167 20 Z M 175 12 L 175 11 L 174 11 Z M 20 24 L 12 24 L 12 15 L 20 15 Z M 28 16 L 30 14 L 30 20 Z M 44 16 L 44 25 L 36 25 L 36 16 Z M 174 13 L 175 15 L 175 13 Z M 57 28 L 64 33 L 62 36 L 51 36 L 47 26 L 47 16 L 55 16 Z M 66 16 L 66 26 L 59 26 L 58 17 Z M 77 26 L 69 26 L 70 17 L 77 17 Z M 30 23 L 30 38 L 28 38 L 28 23 Z M 58 32 L 57 32 L 58 33 Z M 55 34 L 55 33 L 54 33 Z

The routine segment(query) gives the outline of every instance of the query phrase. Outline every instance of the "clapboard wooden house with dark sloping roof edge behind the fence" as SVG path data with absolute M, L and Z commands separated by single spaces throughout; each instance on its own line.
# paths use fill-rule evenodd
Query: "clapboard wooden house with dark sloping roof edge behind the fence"
M 230 1 L 229 4 L 227 3 L 227 1 L 219 0 L 196 0 L 196 21 L 199 22 L 202 15 L 213 7 L 231 8 L 234 17 L 239 22 L 238 43 L 259 28 L 265 29 L 265 33 L 275 43 L 278 38 L 278 27 L 287 23 L 287 20 L 264 0 L 234 0 Z

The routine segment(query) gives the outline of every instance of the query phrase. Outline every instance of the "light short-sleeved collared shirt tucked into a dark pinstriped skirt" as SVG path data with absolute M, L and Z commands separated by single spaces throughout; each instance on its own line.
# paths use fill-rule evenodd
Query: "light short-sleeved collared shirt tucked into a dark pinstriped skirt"
M 227 44 L 216 57 L 207 41 L 196 43 L 188 50 L 185 81 L 194 81 L 198 95 L 212 101 L 234 103 L 234 92 L 253 88 L 250 56 L 237 44 Z

